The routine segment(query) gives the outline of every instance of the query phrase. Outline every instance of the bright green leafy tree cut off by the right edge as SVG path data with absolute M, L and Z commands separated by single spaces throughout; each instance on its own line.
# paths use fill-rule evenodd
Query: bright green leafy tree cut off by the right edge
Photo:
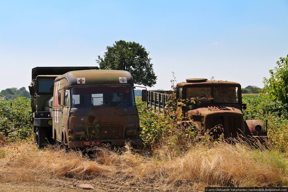
M 272 99 L 288 103 L 288 54 L 280 57 L 276 64 L 274 69 L 269 70 L 271 77 L 264 77 L 265 91 Z

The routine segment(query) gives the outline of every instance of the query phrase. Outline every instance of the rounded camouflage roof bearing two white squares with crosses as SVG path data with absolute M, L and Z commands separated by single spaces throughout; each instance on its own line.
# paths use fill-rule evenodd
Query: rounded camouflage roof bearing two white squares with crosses
M 55 81 L 66 78 L 70 86 L 75 85 L 133 85 L 133 77 L 121 70 L 79 70 L 69 71 L 56 77 Z

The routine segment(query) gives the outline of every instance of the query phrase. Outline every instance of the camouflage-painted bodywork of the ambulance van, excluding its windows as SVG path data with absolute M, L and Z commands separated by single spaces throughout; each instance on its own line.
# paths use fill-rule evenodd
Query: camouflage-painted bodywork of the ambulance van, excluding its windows
M 134 86 L 133 78 L 127 71 L 118 70 L 81 70 L 71 71 L 55 79 L 53 98 L 53 137 L 70 148 L 85 148 L 82 141 L 101 141 L 112 146 L 124 146 L 125 142 L 141 145 L 139 138 L 139 116 L 134 103 L 133 107 L 101 107 L 101 108 L 71 108 L 62 107 L 65 89 L 87 85 Z M 58 92 L 61 94 L 61 105 L 58 103 Z M 133 92 L 134 96 L 134 92 Z M 71 91 L 70 91 L 71 102 Z M 135 101 L 134 101 L 135 102 Z M 71 105 L 71 104 L 70 104 Z M 115 138 L 90 138 L 89 131 L 101 133 L 118 133 Z M 136 134 L 127 136 L 127 129 L 135 129 Z M 70 131 L 69 131 L 70 130 Z M 121 131 L 120 131 L 121 130 Z M 84 131 L 88 136 L 76 137 L 75 131 Z M 107 134 L 107 136 L 108 136 Z

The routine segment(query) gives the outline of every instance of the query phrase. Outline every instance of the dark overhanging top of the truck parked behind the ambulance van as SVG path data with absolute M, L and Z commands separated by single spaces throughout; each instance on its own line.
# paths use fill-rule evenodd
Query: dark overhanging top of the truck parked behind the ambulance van
M 32 69 L 32 80 L 38 75 L 62 75 L 68 71 L 99 69 L 99 67 L 35 67 Z

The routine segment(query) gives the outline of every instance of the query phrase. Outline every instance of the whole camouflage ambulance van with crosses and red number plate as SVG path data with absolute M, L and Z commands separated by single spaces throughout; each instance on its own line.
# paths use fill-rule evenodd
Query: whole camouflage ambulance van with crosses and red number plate
M 133 87 L 127 71 L 81 70 L 57 77 L 53 138 L 69 148 L 141 145 Z

